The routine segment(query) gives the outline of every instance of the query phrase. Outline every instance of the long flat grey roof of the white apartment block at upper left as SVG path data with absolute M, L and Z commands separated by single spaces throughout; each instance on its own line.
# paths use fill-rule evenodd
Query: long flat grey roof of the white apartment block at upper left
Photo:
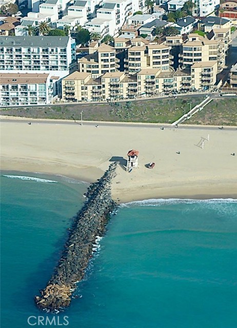
M 3 47 L 67 47 L 69 36 L 0 36 Z

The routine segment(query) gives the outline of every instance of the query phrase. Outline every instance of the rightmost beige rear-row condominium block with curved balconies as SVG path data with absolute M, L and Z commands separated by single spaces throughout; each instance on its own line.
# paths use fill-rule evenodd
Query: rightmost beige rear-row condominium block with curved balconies
M 223 42 L 216 39 L 208 39 L 198 34 L 189 34 L 183 44 L 183 53 L 180 54 L 180 63 L 183 68 L 190 68 L 198 61 L 218 61 L 218 72 L 225 66 L 225 47 Z

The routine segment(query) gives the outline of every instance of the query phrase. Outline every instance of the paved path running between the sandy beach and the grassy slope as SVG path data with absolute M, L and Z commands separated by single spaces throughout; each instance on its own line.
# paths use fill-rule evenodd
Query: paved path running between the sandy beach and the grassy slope
M 27 119 L 1 119 L 1 122 L 15 122 L 15 123 L 21 123 L 21 124 L 25 124 L 28 125 L 28 122 L 30 120 Z M 81 126 L 81 121 L 56 121 L 56 120 L 31 120 L 31 125 L 34 124 L 56 124 L 56 125 L 78 125 L 78 128 L 83 129 L 84 126 L 96 126 L 98 124 L 98 129 L 103 128 L 103 127 L 129 127 L 129 128 L 164 128 L 164 129 L 177 129 L 175 127 L 172 127 L 171 125 L 168 124 L 139 124 L 139 123 L 133 123 L 133 124 L 129 124 L 129 123 L 109 123 L 109 122 L 90 122 L 90 121 L 83 121 L 83 126 Z M 224 130 L 232 130 L 232 131 L 236 131 L 237 133 L 237 128 L 235 127 L 224 127 L 223 130 L 221 129 L 221 127 L 213 127 L 213 126 L 188 126 L 188 125 L 180 125 L 178 129 L 190 129 L 190 130 L 220 130 L 224 131 Z

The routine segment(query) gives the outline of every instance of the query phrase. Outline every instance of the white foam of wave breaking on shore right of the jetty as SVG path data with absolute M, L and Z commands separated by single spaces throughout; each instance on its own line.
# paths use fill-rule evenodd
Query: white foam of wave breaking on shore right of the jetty
M 169 199 L 145 199 L 145 200 L 137 200 L 131 201 L 128 203 L 121 204 L 121 207 L 130 207 L 133 205 L 138 206 L 162 206 L 164 204 L 177 204 L 177 203 L 236 203 L 237 199 L 233 198 L 213 198 L 213 199 L 180 199 L 180 198 L 169 198 Z

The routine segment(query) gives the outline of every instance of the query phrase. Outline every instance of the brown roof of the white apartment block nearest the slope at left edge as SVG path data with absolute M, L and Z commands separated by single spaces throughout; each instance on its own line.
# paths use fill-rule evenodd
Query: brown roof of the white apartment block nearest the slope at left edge
M 33 84 L 46 83 L 49 74 L 38 73 L 2 73 L 0 74 L 1 84 Z

